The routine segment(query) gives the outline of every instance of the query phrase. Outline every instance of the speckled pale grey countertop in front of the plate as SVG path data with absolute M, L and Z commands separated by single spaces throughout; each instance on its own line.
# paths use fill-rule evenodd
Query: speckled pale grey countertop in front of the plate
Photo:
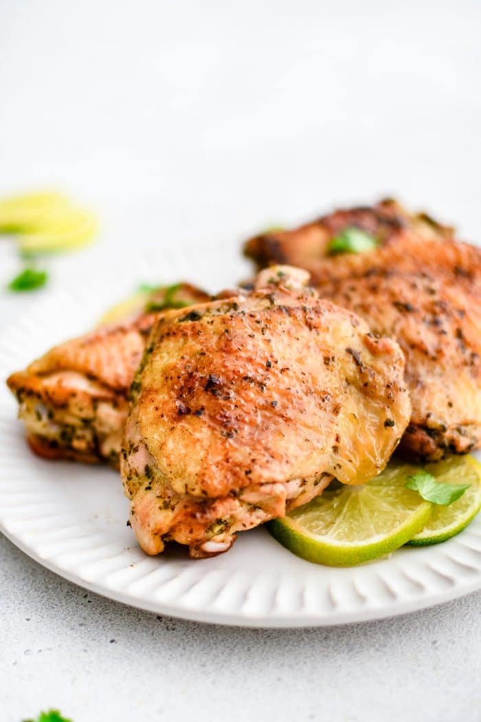
M 479 722 L 481 593 L 381 622 L 249 630 L 87 593 L 0 540 L 1 719 Z

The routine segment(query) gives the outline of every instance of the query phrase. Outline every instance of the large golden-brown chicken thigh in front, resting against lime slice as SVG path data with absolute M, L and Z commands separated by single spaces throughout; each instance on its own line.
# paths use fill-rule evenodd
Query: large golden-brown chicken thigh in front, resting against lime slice
M 350 311 L 269 269 L 250 295 L 159 317 L 120 469 L 141 547 L 192 557 L 384 468 L 410 417 L 404 357 Z

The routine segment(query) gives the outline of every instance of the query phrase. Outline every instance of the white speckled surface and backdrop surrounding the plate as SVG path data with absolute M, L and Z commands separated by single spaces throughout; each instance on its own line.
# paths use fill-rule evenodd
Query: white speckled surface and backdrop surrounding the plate
M 162 248 L 235 252 L 385 194 L 481 238 L 480 38 L 476 0 L 0 0 L 0 194 L 71 191 L 103 225 L 37 295 L 4 292 L 19 261 L 0 243 L 0 330 L 84 274 L 122 295 L 112 258 L 135 285 Z M 6 540 L 0 559 L 2 722 L 52 705 L 74 722 L 480 720 L 479 594 L 379 624 L 224 630 L 84 596 Z

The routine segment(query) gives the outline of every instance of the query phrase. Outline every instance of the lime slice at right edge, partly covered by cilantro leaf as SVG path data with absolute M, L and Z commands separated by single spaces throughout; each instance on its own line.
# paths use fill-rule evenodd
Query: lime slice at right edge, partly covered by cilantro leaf
M 472 456 L 451 456 L 446 461 L 428 464 L 426 471 L 446 484 L 471 484 L 462 497 L 449 506 L 434 505 L 422 531 L 409 542 L 416 547 L 439 544 L 465 529 L 481 509 L 481 464 Z

